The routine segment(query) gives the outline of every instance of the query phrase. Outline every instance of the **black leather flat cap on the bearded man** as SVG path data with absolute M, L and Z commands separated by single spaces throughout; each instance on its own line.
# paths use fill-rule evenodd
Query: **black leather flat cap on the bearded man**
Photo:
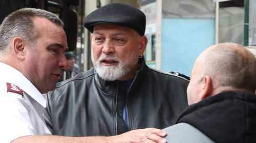
M 105 5 L 84 19 L 84 26 L 93 33 L 93 27 L 97 24 L 115 24 L 133 28 L 141 36 L 145 33 L 146 16 L 132 6 L 112 3 Z

